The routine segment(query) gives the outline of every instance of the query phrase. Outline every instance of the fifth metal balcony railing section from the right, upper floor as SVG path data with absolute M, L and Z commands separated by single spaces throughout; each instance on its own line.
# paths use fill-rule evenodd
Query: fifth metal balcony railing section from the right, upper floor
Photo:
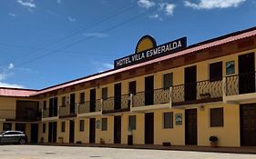
M 78 105 L 78 114 L 87 114 L 92 112 L 101 111 L 101 99 L 97 99 L 95 102 L 87 101 Z

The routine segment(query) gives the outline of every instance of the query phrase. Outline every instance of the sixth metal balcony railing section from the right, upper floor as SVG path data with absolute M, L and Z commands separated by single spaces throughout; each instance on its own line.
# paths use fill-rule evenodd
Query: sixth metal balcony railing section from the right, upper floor
M 59 107 L 59 116 L 76 116 L 77 115 L 77 104 L 66 104 Z

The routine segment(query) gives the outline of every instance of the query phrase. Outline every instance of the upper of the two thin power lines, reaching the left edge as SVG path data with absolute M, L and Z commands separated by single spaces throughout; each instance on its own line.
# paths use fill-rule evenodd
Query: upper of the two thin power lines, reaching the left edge
M 94 27 L 96 25 L 104 23 L 104 22 L 108 21 L 109 19 L 112 19 L 112 18 L 116 17 L 117 15 L 123 14 L 123 13 L 127 12 L 128 10 L 132 9 L 134 6 L 135 6 L 135 4 L 129 5 L 128 7 L 124 7 L 123 9 L 118 11 L 118 13 L 115 13 L 113 15 L 108 15 L 107 17 L 105 17 L 105 18 L 103 18 L 101 20 L 97 20 L 96 22 L 92 23 L 91 25 L 87 25 L 87 26 L 83 26 L 83 27 L 78 28 L 78 29 L 74 29 L 71 32 L 67 33 L 67 35 L 65 35 L 64 37 L 58 38 L 56 40 L 52 40 L 51 42 L 49 42 L 49 44 L 43 45 L 43 46 L 39 47 L 36 50 L 33 50 L 31 52 L 26 53 L 25 55 L 19 55 L 19 56 L 13 58 L 13 59 L 10 59 L 9 61 L 15 61 L 16 59 L 20 59 L 20 58 L 26 57 L 27 55 L 31 55 L 31 54 L 34 54 L 34 53 L 36 53 L 38 51 L 41 51 L 41 50 L 43 50 L 44 48 L 46 48 L 48 46 L 55 45 L 55 44 L 57 44 L 59 42 L 62 42 L 64 40 L 66 40 L 68 37 L 71 37 L 73 35 L 77 35 L 78 33 L 82 32 L 84 30 L 87 30 L 87 29 L 92 28 L 92 27 Z M 10 62 L 3 63 L 2 65 L 6 65 L 8 63 L 10 63 Z

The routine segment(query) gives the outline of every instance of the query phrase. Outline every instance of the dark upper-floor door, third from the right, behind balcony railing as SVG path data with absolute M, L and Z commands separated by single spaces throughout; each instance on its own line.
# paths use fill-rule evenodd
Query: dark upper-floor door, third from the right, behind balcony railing
M 154 104 L 154 76 L 145 77 L 145 105 Z

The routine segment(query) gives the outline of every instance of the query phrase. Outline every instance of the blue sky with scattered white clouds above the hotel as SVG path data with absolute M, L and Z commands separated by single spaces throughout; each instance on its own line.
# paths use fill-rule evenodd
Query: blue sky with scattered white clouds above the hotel
M 113 68 L 138 40 L 188 45 L 256 26 L 256 0 L 1 0 L 0 86 L 42 89 Z

